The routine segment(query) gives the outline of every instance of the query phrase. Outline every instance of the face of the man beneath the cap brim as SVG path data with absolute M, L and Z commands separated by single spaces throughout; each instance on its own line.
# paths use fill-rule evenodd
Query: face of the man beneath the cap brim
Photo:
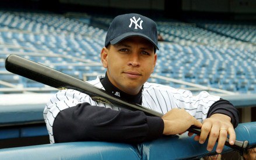
M 128 94 L 138 94 L 154 71 L 154 46 L 141 37 L 129 37 L 101 50 L 101 62 L 110 82 Z

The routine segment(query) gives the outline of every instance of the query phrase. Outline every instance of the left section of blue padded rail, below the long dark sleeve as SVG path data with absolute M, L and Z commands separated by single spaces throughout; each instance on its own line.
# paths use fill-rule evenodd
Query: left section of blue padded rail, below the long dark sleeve
M 44 144 L 0 150 L 0 159 L 141 159 L 136 146 L 107 142 Z

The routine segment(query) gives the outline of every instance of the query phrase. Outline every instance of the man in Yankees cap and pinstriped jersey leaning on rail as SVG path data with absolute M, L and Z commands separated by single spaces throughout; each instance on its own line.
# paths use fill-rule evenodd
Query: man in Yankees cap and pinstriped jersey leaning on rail
M 229 143 L 234 144 L 238 112 L 229 101 L 207 92 L 192 96 L 188 90 L 146 82 L 154 71 L 157 49 L 153 20 L 134 13 L 117 16 L 108 28 L 100 54 L 106 75 L 89 83 L 122 100 L 162 112 L 162 118 L 93 101 L 76 90 L 61 90 L 44 110 L 51 143 L 141 143 L 163 134 L 182 134 L 195 125 L 201 128 L 201 135 L 195 136 L 199 143 L 204 143 L 209 134 L 209 151 L 219 139 L 216 151 L 222 152 L 227 134 Z

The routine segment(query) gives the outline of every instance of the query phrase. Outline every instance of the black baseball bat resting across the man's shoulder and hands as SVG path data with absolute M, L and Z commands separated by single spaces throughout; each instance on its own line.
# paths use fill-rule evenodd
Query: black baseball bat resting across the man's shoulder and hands
M 53 68 L 44 66 L 43 64 L 24 59 L 23 57 L 15 54 L 11 54 L 7 57 L 5 60 L 5 68 L 13 74 L 29 78 L 33 81 L 37 81 L 57 89 L 78 90 L 79 92 L 88 94 L 95 101 L 111 104 L 129 111 L 143 111 L 149 116 L 163 116 L 163 114 L 160 112 L 150 110 L 149 108 L 143 107 L 139 104 L 128 103 L 127 101 L 120 100 L 111 94 L 108 94 L 105 90 L 96 88 L 85 81 L 54 70 Z M 191 126 L 188 131 L 198 135 L 201 133 L 201 130 L 199 128 L 195 128 L 194 126 Z M 230 145 L 229 139 L 227 138 L 225 145 L 233 148 L 234 150 L 238 150 L 241 153 L 246 151 L 248 141 L 236 140 L 234 145 Z

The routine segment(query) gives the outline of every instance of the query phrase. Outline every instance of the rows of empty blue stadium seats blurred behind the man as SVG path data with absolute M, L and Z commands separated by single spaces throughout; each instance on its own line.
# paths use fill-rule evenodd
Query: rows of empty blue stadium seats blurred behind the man
M 110 19 L 104 17 L 96 20 L 106 26 L 110 23 Z M 251 34 L 252 43 L 246 43 L 243 38 L 224 36 L 212 28 L 199 28 L 195 23 L 157 21 L 157 24 L 166 42 L 159 43 L 155 74 L 232 92 L 256 93 L 255 33 Z M 106 31 L 82 22 L 81 18 L 1 11 L 0 30 L 1 81 L 21 88 L 45 87 L 7 72 L 4 61 L 9 54 L 18 54 L 79 79 L 83 79 L 85 73 L 105 72 L 99 53 Z M 149 81 L 176 88 L 188 87 L 161 79 Z M 1 88 L 6 87 L 0 83 L 0 93 L 6 93 L 1 92 Z

